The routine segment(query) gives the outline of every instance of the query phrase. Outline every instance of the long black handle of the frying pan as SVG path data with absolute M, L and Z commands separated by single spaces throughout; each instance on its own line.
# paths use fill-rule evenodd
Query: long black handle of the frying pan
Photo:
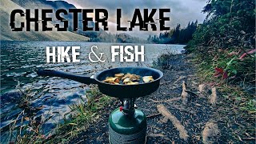
M 91 78 L 90 76 L 85 76 L 82 74 L 70 74 L 70 73 L 57 71 L 57 70 L 38 70 L 37 74 L 40 76 L 68 78 L 68 79 L 72 79 L 76 82 L 82 82 L 82 83 L 85 83 L 88 85 L 89 84 L 97 84 L 97 81 L 94 78 Z

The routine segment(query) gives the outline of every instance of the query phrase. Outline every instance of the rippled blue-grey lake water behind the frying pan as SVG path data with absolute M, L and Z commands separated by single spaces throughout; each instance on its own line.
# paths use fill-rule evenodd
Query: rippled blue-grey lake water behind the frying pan
M 110 46 L 112 45 L 143 45 L 145 62 L 111 62 Z M 81 46 L 80 62 L 46 63 L 46 46 Z M 106 62 L 92 63 L 88 54 L 91 46 L 98 46 Z M 184 45 L 160 44 L 118 44 L 94 42 L 1 42 L 1 129 L 8 126 L 21 110 L 15 105 L 18 101 L 18 84 L 22 90 L 30 90 L 33 106 L 43 106 L 38 116 L 54 115 L 48 125 L 50 130 L 54 123 L 62 121 L 70 112 L 69 105 L 86 97 L 82 83 L 63 78 L 38 77 L 38 69 L 63 70 L 71 73 L 93 75 L 99 70 L 118 66 L 151 66 L 159 54 L 166 52 L 180 53 Z M 71 51 L 71 50 L 70 50 Z M 58 113 L 56 113 L 58 112 Z

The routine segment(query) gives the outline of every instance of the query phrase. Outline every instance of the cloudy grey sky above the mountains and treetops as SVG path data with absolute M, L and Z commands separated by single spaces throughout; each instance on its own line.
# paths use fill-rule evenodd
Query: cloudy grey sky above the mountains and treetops
M 206 14 L 202 14 L 202 7 L 206 5 L 207 0 L 66 0 L 77 8 L 104 8 L 108 10 L 108 26 L 109 32 L 116 33 L 116 10 L 122 9 L 122 26 L 130 26 L 127 22 L 132 20 L 134 10 L 139 8 L 143 9 L 170 9 L 169 14 L 165 16 L 170 17 L 170 21 L 166 22 L 166 26 L 174 27 L 180 23 L 182 27 L 186 26 L 188 22 L 198 20 L 199 23 L 203 22 Z M 158 18 L 158 11 L 154 14 L 154 18 Z M 94 15 L 91 15 L 94 16 Z M 136 26 L 135 26 L 136 27 Z M 150 30 L 150 25 L 149 25 Z M 133 36 L 140 36 L 146 38 L 149 34 L 158 34 L 158 32 L 138 32 L 133 30 L 128 34 Z

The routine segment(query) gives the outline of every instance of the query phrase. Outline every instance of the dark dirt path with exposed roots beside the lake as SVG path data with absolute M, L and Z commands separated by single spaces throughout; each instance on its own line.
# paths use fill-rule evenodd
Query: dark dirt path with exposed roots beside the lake
M 234 138 L 234 125 L 226 124 L 232 117 L 219 118 L 221 94 L 198 82 L 190 58 L 174 55 L 162 72 L 158 91 L 135 102 L 147 116 L 146 143 L 254 143 Z M 102 110 L 100 121 L 70 143 L 108 143 L 109 114 L 118 106 L 114 101 Z

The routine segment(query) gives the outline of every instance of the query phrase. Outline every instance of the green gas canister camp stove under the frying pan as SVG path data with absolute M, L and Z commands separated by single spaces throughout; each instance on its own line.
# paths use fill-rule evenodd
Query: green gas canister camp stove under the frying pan
M 110 143 L 145 143 L 146 115 L 134 105 L 135 98 L 121 102 L 122 106 L 110 114 Z

